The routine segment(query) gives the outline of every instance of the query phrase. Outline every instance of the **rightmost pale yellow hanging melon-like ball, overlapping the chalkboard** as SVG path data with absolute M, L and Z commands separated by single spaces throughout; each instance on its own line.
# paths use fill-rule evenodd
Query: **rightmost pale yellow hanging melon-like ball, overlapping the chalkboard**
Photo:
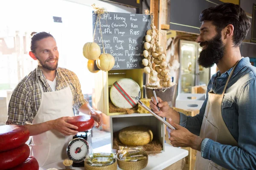
M 111 54 L 103 53 L 96 60 L 96 65 L 102 71 L 110 71 L 115 65 L 115 58 Z

